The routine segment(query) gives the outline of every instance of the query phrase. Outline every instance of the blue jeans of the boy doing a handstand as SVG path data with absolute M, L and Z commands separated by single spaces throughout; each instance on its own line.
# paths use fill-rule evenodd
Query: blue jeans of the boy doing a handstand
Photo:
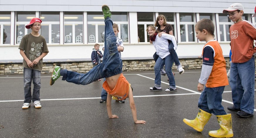
M 101 64 L 92 68 L 86 74 L 63 69 L 60 71 L 63 76 L 62 80 L 66 80 L 67 82 L 72 82 L 74 84 L 87 85 L 98 79 L 108 78 L 122 73 L 123 63 L 117 50 L 116 36 L 112 25 L 113 22 L 111 18 L 107 17 L 105 19 L 105 49 Z

